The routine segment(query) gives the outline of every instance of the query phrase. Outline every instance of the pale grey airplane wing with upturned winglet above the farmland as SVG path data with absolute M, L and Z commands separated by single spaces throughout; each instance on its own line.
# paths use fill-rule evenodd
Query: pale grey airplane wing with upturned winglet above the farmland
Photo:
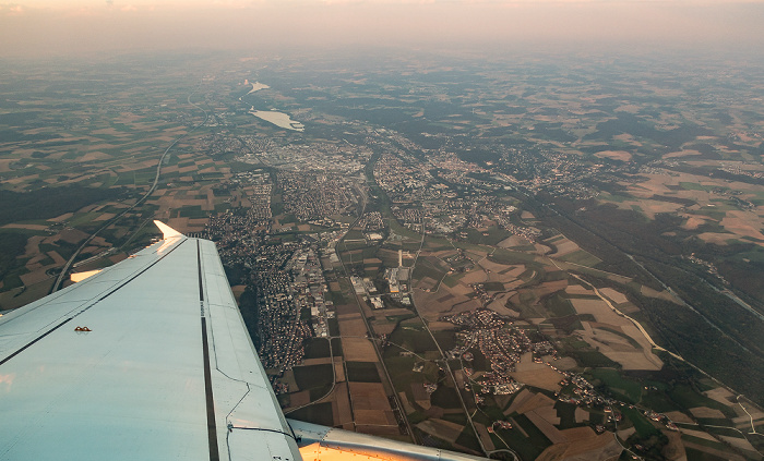
M 296 435 L 215 244 L 159 227 L 163 241 L 0 316 L 0 459 L 297 461 L 343 459 L 343 445 L 475 459 L 391 458 L 407 445 L 305 423 Z

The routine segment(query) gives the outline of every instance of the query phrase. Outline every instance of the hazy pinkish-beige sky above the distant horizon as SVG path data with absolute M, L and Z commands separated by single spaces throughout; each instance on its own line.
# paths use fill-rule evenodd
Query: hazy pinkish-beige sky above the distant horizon
M 0 56 L 285 47 L 764 49 L 764 0 L 0 0 Z

